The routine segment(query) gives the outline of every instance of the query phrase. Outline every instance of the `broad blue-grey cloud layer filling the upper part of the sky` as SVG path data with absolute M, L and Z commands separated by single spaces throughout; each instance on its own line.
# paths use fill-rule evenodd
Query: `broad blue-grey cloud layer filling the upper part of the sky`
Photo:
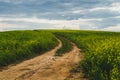
M 19 0 L 20 4 L 14 4 L 17 1 L 1 0 L 0 16 L 9 15 L 9 17 L 13 17 L 15 15 L 14 17 L 37 16 L 45 19 L 79 19 L 106 18 L 120 15 L 116 13 L 116 11 L 120 11 L 118 9 L 118 0 Z M 21 14 L 24 15 L 21 16 Z

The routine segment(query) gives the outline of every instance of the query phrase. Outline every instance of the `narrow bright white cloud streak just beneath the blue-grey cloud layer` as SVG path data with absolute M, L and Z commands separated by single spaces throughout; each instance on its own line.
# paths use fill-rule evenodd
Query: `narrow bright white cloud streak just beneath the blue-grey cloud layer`
M 94 21 L 98 20 L 101 21 L 102 18 L 98 19 L 78 19 L 78 20 L 49 20 L 49 19 L 39 19 L 36 17 L 33 18 L 0 18 L 0 21 L 19 21 L 19 22 L 32 22 L 32 23 L 49 23 L 49 24 L 80 24 L 80 22 L 87 22 L 87 21 Z M 76 23 L 74 23 L 76 22 Z

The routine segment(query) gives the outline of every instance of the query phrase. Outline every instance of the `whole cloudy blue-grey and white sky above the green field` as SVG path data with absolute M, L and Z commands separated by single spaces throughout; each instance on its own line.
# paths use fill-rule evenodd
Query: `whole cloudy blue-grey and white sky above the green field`
M 120 31 L 120 0 L 0 0 L 0 31 Z

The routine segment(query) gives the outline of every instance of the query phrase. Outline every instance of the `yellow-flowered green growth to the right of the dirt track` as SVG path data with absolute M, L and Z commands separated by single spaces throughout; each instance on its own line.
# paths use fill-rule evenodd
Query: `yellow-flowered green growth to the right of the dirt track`
M 120 80 L 120 33 L 61 32 L 84 51 L 79 66 L 90 80 Z

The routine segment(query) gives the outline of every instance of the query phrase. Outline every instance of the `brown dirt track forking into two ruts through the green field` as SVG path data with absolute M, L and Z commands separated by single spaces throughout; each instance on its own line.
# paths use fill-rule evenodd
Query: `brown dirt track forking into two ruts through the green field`
M 82 57 L 80 49 L 74 44 L 72 51 L 55 57 L 54 54 L 62 46 L 58 41 L 59 45 L 51 51 L 1 71 L 0 80 L 85 80 L 80 79 L 82 75 L 77 79 L 70 73 Z

